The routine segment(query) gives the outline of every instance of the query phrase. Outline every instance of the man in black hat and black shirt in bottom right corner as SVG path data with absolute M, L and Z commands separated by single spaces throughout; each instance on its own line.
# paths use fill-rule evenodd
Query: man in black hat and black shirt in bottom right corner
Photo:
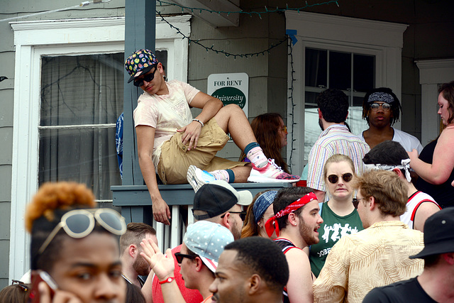
M 363 302 L 454 302 L 454 208 L 433 214 L 424 224 L 424 260 L 419 277 L 370 291 Z

